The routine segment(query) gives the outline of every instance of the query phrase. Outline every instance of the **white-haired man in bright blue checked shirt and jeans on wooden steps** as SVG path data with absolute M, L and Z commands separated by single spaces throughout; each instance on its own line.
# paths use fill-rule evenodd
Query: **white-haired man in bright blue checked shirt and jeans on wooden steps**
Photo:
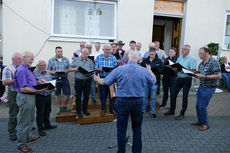
M 97 57 L 95 62 L 96 71 L 99 73 L 101 78 L 106 77 L 110 72 L 103 71 L 103 67 L 114 68 L 117 66 L 117 59 L 113 56 L 110 45 L 104 45 L 103 48 L 104 54 L 101 54 Z M 111 98 L 110 90 L 108 85 L 99 85 L 100 99 L 101 99 L 101 116 L 105 115 L 106 110 L 106 97 L 109 94 L 109 111 L 112 114 L 115 114 L 114 111 L 114 100 Z

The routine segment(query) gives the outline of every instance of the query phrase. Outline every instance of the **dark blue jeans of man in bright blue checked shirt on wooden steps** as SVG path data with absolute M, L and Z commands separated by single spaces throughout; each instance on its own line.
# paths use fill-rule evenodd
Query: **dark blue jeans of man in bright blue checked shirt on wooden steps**
M 109 110 L 114 110 L 114 99 L 111 99 L 109 86 L 99 85 L 101 109 L 106 110 L 106 98 L 109 95 Z

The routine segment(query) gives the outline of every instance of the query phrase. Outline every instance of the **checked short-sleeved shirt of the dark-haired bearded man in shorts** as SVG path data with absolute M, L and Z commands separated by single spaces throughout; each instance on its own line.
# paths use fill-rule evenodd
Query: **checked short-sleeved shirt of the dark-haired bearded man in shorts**
M 62 72 L 70 68 L 69 60 L 66 57 L 62 57 L 61 61 L 59 61 L 56 56 L 51 58 L 47 65 L 47 70 L 53 72 Z M 61 77 L 65 77 L 67 74 L 63 74 Z M 55 76 L 53 76 L 55 77 Z

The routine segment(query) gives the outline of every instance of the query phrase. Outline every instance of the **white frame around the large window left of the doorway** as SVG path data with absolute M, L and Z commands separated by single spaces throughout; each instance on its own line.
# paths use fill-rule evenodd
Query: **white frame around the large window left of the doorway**
M 93 3 L 93 0 L 73 0 L 76 2 L 91 2 Z M 53 38 L 57 38 L 57 40 L 60 39 L 70 39 L 72 41 L 73 39 L 98 39 L 98 40 L 116 40 L 117 39 L 117 3 L 115 1 L 97 1 L 97 3 L 102 4 L 113 4 L 114 5 L 114 25 L 113 25 L 113 37 L 105 37 L 105 36 L 89 36 L 89 35 L 71 35 L 71 34 L 56 34 L 54 33 L 54 3 L 55 0 L 51 0 L 51 13 L 50 13 L 50 36 Z

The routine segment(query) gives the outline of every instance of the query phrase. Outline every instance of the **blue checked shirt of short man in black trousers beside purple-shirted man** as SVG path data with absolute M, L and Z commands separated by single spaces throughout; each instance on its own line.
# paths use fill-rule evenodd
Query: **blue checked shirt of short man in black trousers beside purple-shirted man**
M 34 71 L 34 76 L 35 76 L 36 80 L 41 80 L 41 79 L 46 80 L 46 81 L 52 80 L 52 76 L 47 71 L 42 72 L 42 71 L 36 69 Z M 51 94 L 51 91 L 49 90 L 47 92 L 37 93 L 37 94 L 47 96 L 47 95 Z

